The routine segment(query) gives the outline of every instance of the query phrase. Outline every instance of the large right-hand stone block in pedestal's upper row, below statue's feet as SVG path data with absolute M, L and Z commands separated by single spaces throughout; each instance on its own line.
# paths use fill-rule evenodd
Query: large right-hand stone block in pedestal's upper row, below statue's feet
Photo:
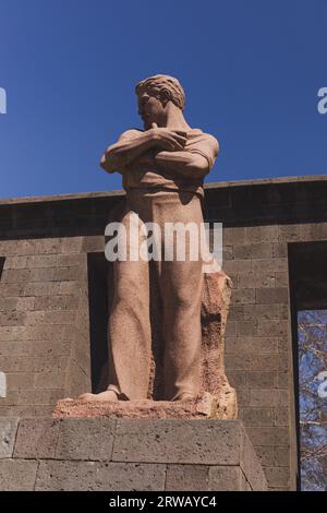
M 117 420 L 116 462 L 238 465 L 237 420 Z

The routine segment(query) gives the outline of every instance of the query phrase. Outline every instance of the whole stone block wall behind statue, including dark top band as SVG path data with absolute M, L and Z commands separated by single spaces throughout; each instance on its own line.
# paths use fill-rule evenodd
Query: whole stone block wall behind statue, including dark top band
M 223 223 L 233 282 L 226 366 L 240 418 L 270 489 L 298 473 L 289 244 L 327 240 L 324 177 L 210 184 L 206 215 Z M 121 193 L 0 204 L 0 416 L 49 415 L 92 386 L 87 254 Z M 4 260 L 3 260 L 4 259 Z

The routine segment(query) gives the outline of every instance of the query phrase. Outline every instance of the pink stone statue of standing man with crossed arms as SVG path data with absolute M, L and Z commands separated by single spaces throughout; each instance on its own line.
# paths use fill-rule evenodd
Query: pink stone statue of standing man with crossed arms
M 132 213 L 141 222 L 204 222 L 203 180 L 218 154 L 217 140 L 192 129 L 184 116 L 179 81 L 155 75 L 136 85 L 144 130 L 126 130 L 108 147 L 101 167 L 122 175 L 129 229 Z M 165 241 L 162 240 L 165 247 Z M 165 249 L 165 248 L 164 248 Z M 187 255 L 187 254 L 186 254 Z M 165 401 L 193 399 L 201 393 L 201 299 L 203 262 L 152 262 L 160 296 Z M 152 278 L 153 279 L 153 278 Z M 149 262 L 114 262 L 114 298 L 109 319 L 109 385 L 84 401 L 149 398 L 152 329 Z

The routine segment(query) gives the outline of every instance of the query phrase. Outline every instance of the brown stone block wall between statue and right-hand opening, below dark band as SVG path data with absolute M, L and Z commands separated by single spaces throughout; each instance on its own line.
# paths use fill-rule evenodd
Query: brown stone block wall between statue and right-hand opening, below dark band
M 240 418 L 274 489 L 295 487 L 295 426 L 288 237 L 299 227 L 229 228 L 225 270 L 233 291 L 226 367 Z

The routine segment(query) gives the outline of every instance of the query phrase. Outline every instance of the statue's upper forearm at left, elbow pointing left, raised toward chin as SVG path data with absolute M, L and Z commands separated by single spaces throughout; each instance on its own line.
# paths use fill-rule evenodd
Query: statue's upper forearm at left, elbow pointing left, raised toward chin
M 101 158 L 101 167 L 108 172 L 120 170 L 152 148 L 154 144 L 155 140 L 150 131 L 146 131 L 137 138 L 118 141 L 106 151 Z

